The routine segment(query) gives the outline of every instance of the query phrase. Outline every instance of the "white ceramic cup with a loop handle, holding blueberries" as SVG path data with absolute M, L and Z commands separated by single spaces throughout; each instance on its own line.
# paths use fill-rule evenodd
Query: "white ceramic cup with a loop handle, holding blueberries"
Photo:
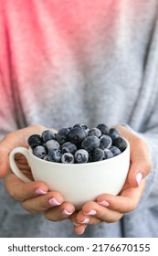
M 116 196 L 121 191 L 130 166 L 130 144 L 126 143 L 127 147 L 121 155 L 87 164 L 48 162 L 33 155 L 31 148 L 16 147 L 9 156 L 10 166 L 16 176 L 30 182 L 15 162 L 16 153 L 25 155 L 34 179 L 46 182 L 50 190 L 57 190 L 66 201 L 79 209 L 85 202 L 95 200 L 101 194 Z

